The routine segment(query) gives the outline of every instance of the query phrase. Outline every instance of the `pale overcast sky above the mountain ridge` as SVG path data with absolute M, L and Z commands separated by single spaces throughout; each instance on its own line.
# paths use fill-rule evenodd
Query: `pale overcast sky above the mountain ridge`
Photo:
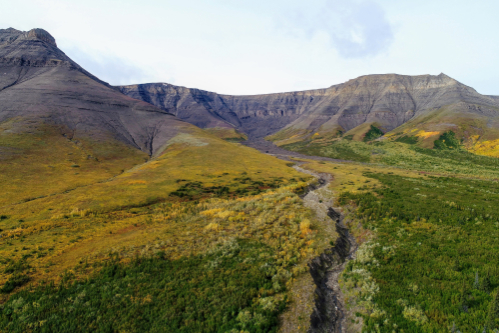
M 1 0 L 0 28 L 43 28 L 114 85 L 260 94 L 443 72 L 499 95 L 497 13 L 491 0 Z

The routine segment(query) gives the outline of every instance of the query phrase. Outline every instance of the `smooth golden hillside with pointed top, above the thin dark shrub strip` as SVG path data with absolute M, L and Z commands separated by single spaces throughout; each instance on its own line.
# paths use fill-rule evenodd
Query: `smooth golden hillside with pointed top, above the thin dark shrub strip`
M 80 169 L 84 167 L 76 170 Z M 109 181 L 75 188 L 70 193 L 52 195 L 26 205 L 38 212 L 43 207 L 52 207 L 50 216 L 42 214 L 50 218 L 56 212 L 69 213 L 73 208 L 109 211 L 162 201 L 182 186 L 186 196 L 206 196 L 209 191 L 234 192 L 246 187 L 244 183 L 261 182 L 253 187 L 268 187 L 269 184 L 277 185 L 302 176 L 281 160 L 252 148 L 225 142 L 192 127 L 171 139 L 159 156 Z M 201 184 L 189 185 L 193 182 Z M 208 189 L 210 187 L 213 189 Z M 182 198 L 182 195 L 177 197 Z M 7 206 L 4 212 L 22 215 L 21 212 L 25 211 L 22 206 Z

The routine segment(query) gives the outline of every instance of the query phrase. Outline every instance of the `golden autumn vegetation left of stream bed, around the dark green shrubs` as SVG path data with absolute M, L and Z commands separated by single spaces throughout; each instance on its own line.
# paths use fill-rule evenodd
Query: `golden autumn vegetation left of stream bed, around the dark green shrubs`
M 234 278 L 245 274 L 246 278 L 241 281 L 249 284 L 244 288 L 260 283 L 265 291 L 254 294 L 250 291 L 253 289 L 243 288 L 248 292 L 235 301 L 260 305 L 230 312 L 231 319 L 216 319 L 215 316 L 214 322 L 228 320 L 226 325 L 243 330 L 251 327 L 275 330 L 278 315 L 293 299 L 289 293 L 295 290 L 296 281 L 308 276 L 307 261 L 330 246 L 331 235 L 324 235 L 324 221 L 317 220 L 297 195 L 312 178 L 297 172 L 287 162 L 219 140 L 201 130 L 173 138 L 163 152 L 147 158 L 133 149 L 127 150 L 126 146 L 124 150 L 115 148 L 113 145 L 119 147 L 119 144 L 112 140 L 103 141 L 106 145 L 102 142 L 91 145 L 84 138 L 68 139 L 57 128 L 33 126 L 33 133 L 21 135 L 26 140 L 25 146 L 21 147 L 23 141 L 16 141 L 5 131 L 0 137 L 4 151 L 7 148 L 24 149 L 22 154 L 2 155 L 7 156 L 8 163 L 2 164 L 6 199 L 0 207 L 3 267 L 0 270 L 0 303 L 7 304 L 8 318 L 24 318 L 27 312 L 22 309 L 29 309 L 33 314 L 29 317 L 32 319 L 16 320 L 15 324 L 2 317 L 7 322 L 2 321 L 0 330 L 9 327 L 9 331 L 24 332 L 26 329 L 65 327 L 64 330 L 71 331 L 87 324 L 89 329 L 104 327 L 98 318 L 82 324 L 81 318 L 71 321 L 58 317 L 51 321 L 42 313 L 34 315 L 33 304 L 40 304 L 37 309 L 47 306 L 53 311 L 69 304 L 47 303 L 42 295 L 28 306 L 26 297 L 43 294 L 43 288 L 51 288 L 52 283 L 64 284 L 68 288 L 65 292 L 71 292 L 72 286 L 85 281 L 122 286 L 120 278 L 113 277 L 111 282 L 108 275 L 102 274 L 108 274 L 109 265 L 117 265 L 118 270 L 133 270 L 136 265 L 145 265 L 138 258 L 150 260 L 151 264 L 160 260 L 153 264 L 155 267 L 171 263 L 179 269 L 183 269 L 182 265 L 191 265 L 189 260 L 194 260 L 202 264 L 197 271 L 189 272 L 202 276 L 215 271 L 223 275 L 229 266 L 236 265 L 235 273 L 231 274 Z M 57 150 L 47 148 L 40 153 L 39 141 L 55 145 Z M 124 157 L 109 155 L 106 149 L 110 152 L 117 149 Z M 131 154 L 127 155 L 128 152 Z M 112 169 L 106 164 L 114 166 L 114 162 L 120 164 L 125 160 L 130 161 L 126 170 Z M 23 183 L 22 178 L 14 177 L 16 169 L 24 164 L 27 168 L 38 168 L 26 171 L 36 175 L 26 178 L 33 190 L 29 190 L 29 184 Z M 38 171 L 48 168 L 47 165 L 54 165 L 56 170 Z M 108 170 L 108 173 L 98 170 Z M 58 176 L 66 177 L 64 182 L 52 182 Z M 20 186 L 26 186 L 26 191 L 17 191 Z M 255 271 L 252 264 L 255 259 L 248 257 L 239 262 L 238 258 L 245 254 L 233 257 L 223 254 L 223 249 L 230 253 L 249 251 L 265 269 Z M 134 276 L 135 273 L 129 274 Z M 270 279 L 268 286 L 267 279 Z M 159 277 L 157 280 L 163 281 Z M 152 284 L 150 288 L 153 288 Z M 33 294 L 31 288 L 42 289 L 36 289 L 38 291 Z M 132 308 L 123 307 L 123 304 L 118 308 L 133 313 L 137 310 L 133 307 L 136 302 L 159 306 L 161 302 L 157 295 L 154 296 L 153 289 L 145 295 L 131 293 Z M 88 289 L 86 295 L 93 292 Z M 50 293 L 54 294 L 54 291 Z M 68 297 L 84 299 L 76 296 Z M 12 302 L 23 304 L 23 307 L 10 307 L 8 304 L 14 304 Z M 313 299 L 308 302 L 310 307 Z M 76 303 L 71 304 L 76 307 Z M 114 315 L 119 316 L 117 312 Z M 194 326 L 179 322 L 180 326 L 175 327 L 212 325 L 200 318 L 191 323 Z M 172 330 L 177 331 L 173 327 Z

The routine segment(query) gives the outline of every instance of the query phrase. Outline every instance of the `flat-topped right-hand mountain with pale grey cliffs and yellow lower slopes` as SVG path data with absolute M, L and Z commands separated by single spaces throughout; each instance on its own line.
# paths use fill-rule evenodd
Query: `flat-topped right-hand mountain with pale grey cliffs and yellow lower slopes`
M 496 154 L 497 99 L 446 75 L 369 75 L 334 88 L 329 89 L 334 103 L 304 113 L 267 139 L 277 145 L 339 137 L 371 141 L 374 126 L 392 139 L 412 138 L 407 142 L 432 148 L 433 141 L 452 130 L 468 150 Z

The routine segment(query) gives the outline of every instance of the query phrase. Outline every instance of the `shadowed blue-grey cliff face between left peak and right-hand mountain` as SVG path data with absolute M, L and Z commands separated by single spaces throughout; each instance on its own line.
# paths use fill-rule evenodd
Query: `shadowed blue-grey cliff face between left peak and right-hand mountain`
M 265 137 L 309 110 L 325 90 L 256 96 L 229 96 L 147 83 L 119 87 L 125 95 L 143 100 L 201 128 L 236 128 L 250 137 Z

